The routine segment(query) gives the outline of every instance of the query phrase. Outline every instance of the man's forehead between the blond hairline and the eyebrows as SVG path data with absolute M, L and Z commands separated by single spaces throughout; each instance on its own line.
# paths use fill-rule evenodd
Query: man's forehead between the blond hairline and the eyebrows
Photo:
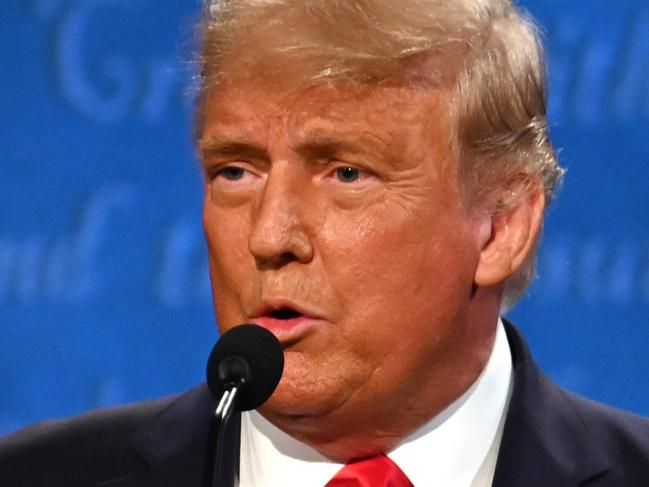
M 206 97 L 204 138 L 294 138 L 328 134 L 380 146 L 449 141 L 448 94 L 440 89 L 358 83 L 308 87 L 272 78 L 230 78 Z M 393 147 L 396 148 L 396 147 Z

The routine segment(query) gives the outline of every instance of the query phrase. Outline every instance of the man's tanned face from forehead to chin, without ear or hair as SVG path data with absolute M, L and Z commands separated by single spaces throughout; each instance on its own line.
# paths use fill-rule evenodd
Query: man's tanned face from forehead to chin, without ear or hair
M 361 423 L 402 435 L 386 416 L 430 415 L 481 369 L 467 337 L 477 224 L 447 112 L 442 90 L 395 86 L 288 96 L 247 80 L 207 97 L 219 328 L 277 336 L 285 370 L 262 412 L 325 452 Z

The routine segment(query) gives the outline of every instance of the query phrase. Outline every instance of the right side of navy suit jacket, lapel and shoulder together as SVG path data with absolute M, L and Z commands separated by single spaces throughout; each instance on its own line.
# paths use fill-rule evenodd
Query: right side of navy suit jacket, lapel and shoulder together
M 561 388 L 518 330 L 506 323 L 506 331 L 513 391 L 494 485 L 649 485 L 649 420 Z

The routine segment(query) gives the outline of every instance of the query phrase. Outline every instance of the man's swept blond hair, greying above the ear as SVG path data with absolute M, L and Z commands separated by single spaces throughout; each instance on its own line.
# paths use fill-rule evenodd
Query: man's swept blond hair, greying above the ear
M 280 35 L 260 43 L 251 35 L 260 31 Z M 450 76 L 468 206 L 495 198 L 493 211 L 506 211 L 539 188 L 550 201 L 563 175 L 548 138 L 539 34 L 509 0 L 215 0 L 201 37 L 203 93 L 244 47 L 269 69 L 299 64 L 304 83 L 439 85 Z M 530 255 L 506 283 L 505 308 L 533 275 Z

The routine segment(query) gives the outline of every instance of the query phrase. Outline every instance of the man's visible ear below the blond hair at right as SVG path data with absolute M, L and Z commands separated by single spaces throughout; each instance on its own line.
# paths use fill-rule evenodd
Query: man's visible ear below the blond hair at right
M 486 217 L 474 276 L 477 286 L 501 284 L 519 269 L 534 251 L 544 208 L 545 194 L 543 188 L 538 188 L 513 208 Z

